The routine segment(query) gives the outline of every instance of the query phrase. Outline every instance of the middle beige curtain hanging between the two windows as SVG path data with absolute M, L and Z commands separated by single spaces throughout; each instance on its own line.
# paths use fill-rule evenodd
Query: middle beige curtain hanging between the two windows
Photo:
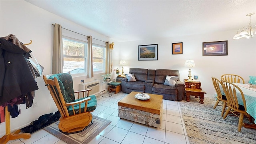
M 92 78 L 93 77 L 93 60 L 92 60 L 92 36 L 87 36 L 87 40 L 88 40 L 88 74 L 87 77 L 88 78 Z

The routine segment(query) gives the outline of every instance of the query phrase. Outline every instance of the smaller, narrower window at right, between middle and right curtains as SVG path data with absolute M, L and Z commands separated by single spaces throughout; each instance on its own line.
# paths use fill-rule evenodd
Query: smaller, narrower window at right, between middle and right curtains
M 92 44 L 92 61 L 94 72 L 105 72 L 106 67 L 106 47 Z

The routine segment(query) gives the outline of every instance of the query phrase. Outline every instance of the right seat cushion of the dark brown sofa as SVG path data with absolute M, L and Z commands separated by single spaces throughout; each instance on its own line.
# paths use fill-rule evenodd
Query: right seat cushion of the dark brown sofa
M 178 90 L 176 86 L 166 86 L 164 84 L 154 84 L 152 91 L 160 94 L 170 94 L 170 95 L 178 94 Z

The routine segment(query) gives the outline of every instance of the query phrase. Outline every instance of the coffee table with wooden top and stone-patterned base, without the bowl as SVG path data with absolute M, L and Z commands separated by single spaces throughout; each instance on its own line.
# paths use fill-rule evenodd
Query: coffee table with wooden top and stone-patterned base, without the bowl
M 149 100 L 138 100 L 131 92 L 118 102 L 118 116 L 127 120 L 160 128 L 163 111 L 163 96 L 150 95 Z

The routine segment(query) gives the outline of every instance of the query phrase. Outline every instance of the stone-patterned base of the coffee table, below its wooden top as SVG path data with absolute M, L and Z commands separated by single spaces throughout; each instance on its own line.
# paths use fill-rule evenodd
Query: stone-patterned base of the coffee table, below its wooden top
M 144 112 L 141 110 L 135 110 L 132 108 L 126 108 L 123 106 L 118 106 L 118 117 L 124 118 L 126 120 L 131 120 L 148 126 L 154 126 L 160 128 L 162 121 L 162 108 L 160 114 L 153 114 L 150 112 Z

